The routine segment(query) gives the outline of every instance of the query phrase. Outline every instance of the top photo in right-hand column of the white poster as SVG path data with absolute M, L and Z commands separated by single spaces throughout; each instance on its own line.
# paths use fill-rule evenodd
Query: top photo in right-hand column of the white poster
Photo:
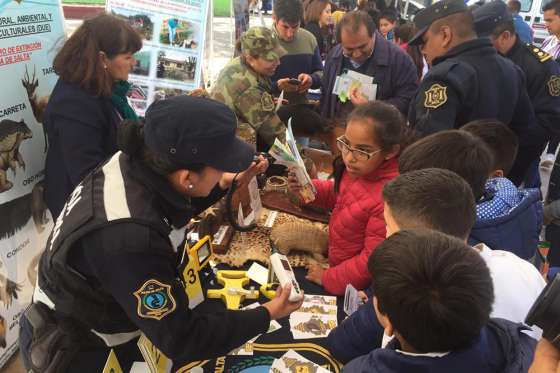
M 164 17 L 159 42 L 173 47 L 197 49 L 200 44 L 200 25 L 178 18 Z

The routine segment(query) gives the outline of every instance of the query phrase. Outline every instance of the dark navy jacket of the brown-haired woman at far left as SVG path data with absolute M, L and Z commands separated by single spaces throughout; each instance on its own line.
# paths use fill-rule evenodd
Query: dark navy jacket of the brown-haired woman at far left
M 117 151 L 118 122 L 109 98 L 58 80 L 43 120 L 49 140 L 45 202 L 53 218 L 84 176 Z

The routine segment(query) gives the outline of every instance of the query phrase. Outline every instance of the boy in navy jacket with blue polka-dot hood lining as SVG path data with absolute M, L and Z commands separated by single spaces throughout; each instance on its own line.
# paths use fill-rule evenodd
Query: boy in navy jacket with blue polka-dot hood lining
M 477 203 L 477 219 L 469 243 L 484 242 L 493 249 L 508 250 L 523 259 L 531 259 L 539 243 L 543 206 L 540 189 L 517 188 L 507 179 L 517 154 L 517 136 L 494 119 L 476 120 L 461 130 L 484 141 L 494 157 L 484 196 Z

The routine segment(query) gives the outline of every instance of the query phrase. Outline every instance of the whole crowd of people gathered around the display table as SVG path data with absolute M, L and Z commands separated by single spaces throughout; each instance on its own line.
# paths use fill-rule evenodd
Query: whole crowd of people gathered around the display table
M 544 202 L 539 189 L 560 136 L 560 0 L 543 9 L 542 49 L 516 0 L 441 0 L 413 23 L 341 5 L 275 0 L 272 27 L 239 33 L 208 94 L 159 100 L 144 118 L 126 99 L 135 31 L 100 15 L 68 39 L 44 114 L 57 218 L 20 320 L 26 368 L 101 371 L 114 348 L 127 370 L 140 332 L 178 368 L 298 309 L 287 286 L 252 310 L 190 310 L 177 274 L 186 224 L 234 179 L 281 173 L 297 198 L 291 170 L 253 158 L 291 121 L 304 153 L 311 139 L 333 156 L 310 203 L 330 211 L 328 266 L 306 280 L 365 301 L 328 337 L 345 372 L 560 369 L 555 341 L 524 324 L 544 260 L 560 267 L 560 164 Z M 375 99 L 364 81 L 339 93 L 349 72 Z

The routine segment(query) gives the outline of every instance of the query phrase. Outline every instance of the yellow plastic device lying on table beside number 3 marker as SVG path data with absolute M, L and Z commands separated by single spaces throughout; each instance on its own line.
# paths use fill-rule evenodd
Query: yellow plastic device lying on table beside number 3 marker
M 247 271 L 218 271 L 216 279 L 220 285 L 224 285 L 221 289 L 209 289 L 208 298 L 221 299 L 229 310 L 238 310 L 241 302 L 245 299 L 258 299 L 258 290 L 247 290 L 243 286 L 249 283 Z

